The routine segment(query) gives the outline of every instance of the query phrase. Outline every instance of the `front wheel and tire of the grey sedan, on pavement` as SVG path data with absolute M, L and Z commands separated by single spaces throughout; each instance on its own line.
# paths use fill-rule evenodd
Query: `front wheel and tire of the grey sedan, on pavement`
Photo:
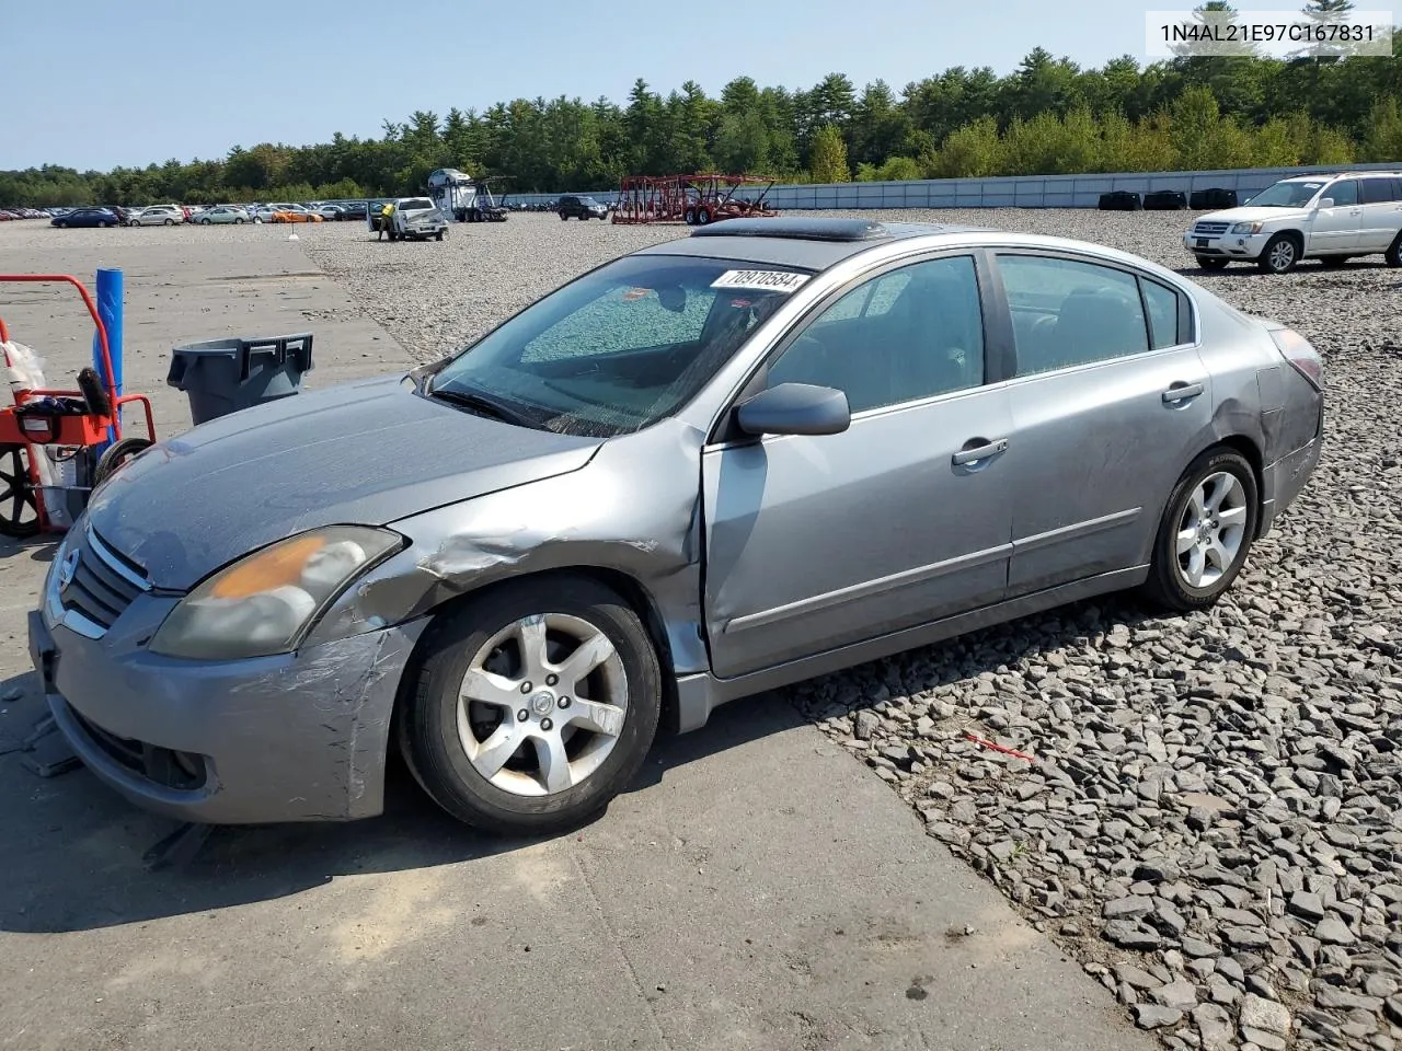
M 429 796 L 467 824 L 573 828 L 652 747 L 662 667 L 642 621 L 601 584 L 508 584 L 450 614 L 426 646 L 400 744 Z

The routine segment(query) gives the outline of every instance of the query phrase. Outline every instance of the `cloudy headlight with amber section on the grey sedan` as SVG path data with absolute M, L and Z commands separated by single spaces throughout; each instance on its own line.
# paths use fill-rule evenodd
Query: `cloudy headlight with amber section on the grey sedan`
M 401 547 L 398 533 L 367 526 L 328 526 L 278 541 L 185 596 L 150 650 L 191 660 L 290 653 L 352 580 Z

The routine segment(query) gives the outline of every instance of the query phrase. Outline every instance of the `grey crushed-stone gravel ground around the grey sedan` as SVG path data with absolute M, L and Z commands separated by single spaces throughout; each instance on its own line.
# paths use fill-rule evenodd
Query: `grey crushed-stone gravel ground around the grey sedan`
M 1190 266 L 1175 213 L 890 217 Z M 317 233 L 311 258 L 432 360 L 684 230 L 515 216 L 443 244 Z M 1182 618 L 1080 604 L 791 692 L 1168 1047 L 1388 1051 L 1402 1047 L 1402 282 L 1381 259 L 1193 276 L 1326 359 L 1319 469 L 1234 590 Z

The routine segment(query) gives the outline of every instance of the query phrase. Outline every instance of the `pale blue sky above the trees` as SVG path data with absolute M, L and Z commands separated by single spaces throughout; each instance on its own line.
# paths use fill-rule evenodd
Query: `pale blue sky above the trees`
M 21 6 L 32 11 L 22 20 Z M 488 34 L 474 43 L 468 17 L 451 8 L 482 11 Z M 714 17 L 688 18 L 693 8 Z M 740 74 L 792 88 L 836 70 L 858 88 L 882 77 L 899 91 L 956 64 L 1007 73 L 1037 45 L 1099 64 L 1143 53 L 1144 10 L 1124 0 L 0 0 L 0 170 L 105 170 L 338 130 L 376 136 L 384 118 L 517 97 L 621 102 L 635 77 L 663 94 L 693 78 L 714 95 Z M 721 28 L 732 21 L 757 28 Z M 423 50 L 386 56 L 380 34 Z

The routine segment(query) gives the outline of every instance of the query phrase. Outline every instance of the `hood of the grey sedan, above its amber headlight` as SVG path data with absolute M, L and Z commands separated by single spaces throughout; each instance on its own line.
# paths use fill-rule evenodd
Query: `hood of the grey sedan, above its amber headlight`
M 161 441 L 94 493 L 87 518 L 157 587 L 185 590 L 301 530 L 384 526 L 578 471 L 600 444 L 477 416 L 393 376 L 282 398 Z

